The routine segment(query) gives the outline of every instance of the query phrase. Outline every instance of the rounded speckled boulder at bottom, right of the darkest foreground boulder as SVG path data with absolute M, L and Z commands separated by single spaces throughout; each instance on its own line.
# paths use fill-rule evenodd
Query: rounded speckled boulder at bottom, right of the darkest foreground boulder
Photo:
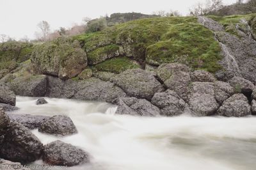
M 90 161 L 85 151 L 61 141 L 44 146 L 43 160 L 54 166 L 76 166 Z

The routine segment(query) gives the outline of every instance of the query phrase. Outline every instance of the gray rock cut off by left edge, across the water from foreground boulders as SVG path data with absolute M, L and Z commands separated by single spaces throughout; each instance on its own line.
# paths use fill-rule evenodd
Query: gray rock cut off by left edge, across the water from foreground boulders
M 7 86 L 0 85 L 0 103 L 3 104 L 16 104 L 16 96 Z

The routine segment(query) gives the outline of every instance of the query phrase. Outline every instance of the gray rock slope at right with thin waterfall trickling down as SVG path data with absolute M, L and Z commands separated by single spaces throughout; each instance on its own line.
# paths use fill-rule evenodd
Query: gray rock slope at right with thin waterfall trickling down
M 236 76 L 244 77 L 255 83 L 256 80 L 256 41 L 250 36 L 250 27 L 244 20 L 240 21 L 245 29 L 236 26 L 236 31 L 239 37 L 225 32 L 220 23 L 207 17 L 198 17 L 198 22 L 203 24 L 208 29 L 211 29 L 216 40 L 220 42 L 223 56 L 221 65 L 227 70 L 234 72 Z

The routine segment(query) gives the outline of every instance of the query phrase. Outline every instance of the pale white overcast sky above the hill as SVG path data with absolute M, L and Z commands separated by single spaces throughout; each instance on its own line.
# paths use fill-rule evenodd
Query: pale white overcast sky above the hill
M 0 34 L 12 38 L 25 35 L 34 38 L 36 24 L 47 20 L 51 29 L 80 24 L 83 17 L 91 19 L 116 12 L 151 14 L 159 10 L 178 10 L 183 15 L 193 4 L 205 0 L 0 0 Z M 236 0 L 223 0 L 231 4 Z

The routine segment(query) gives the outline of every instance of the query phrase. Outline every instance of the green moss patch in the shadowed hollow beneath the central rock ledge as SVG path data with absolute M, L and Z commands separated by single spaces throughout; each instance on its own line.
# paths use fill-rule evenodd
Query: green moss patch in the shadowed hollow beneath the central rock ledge
M 140 68 L 140 65 L 127 57 L 119 57 L 108 59 L 95 65 L 94 68 L 100 72 L 121 73 L 127 69 Z

